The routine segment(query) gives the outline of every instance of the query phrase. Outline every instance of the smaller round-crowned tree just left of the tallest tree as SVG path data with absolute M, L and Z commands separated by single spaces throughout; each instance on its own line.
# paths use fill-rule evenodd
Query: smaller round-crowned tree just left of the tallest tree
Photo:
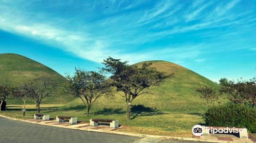
M 85 71 L 77 68 L 75 70 L 73 77 L 66 76 L 68 81 L 66 87 L 75 97 L 82 100 L 84 106 L 87 107 L 87 116 L 89 116 L 90 109 L 98 98 L 112 96 L 111 85 L 105 76 L 95 71 Z

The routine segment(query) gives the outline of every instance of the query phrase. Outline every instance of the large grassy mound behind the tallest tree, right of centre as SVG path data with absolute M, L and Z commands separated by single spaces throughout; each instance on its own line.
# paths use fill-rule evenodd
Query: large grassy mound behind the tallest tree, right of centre
M 174 73 L 175 77 L 166 80 L 158 87 L 150 88 L 151 93 L 142 95 L 134 100 L 133 105 L 142 104 L 145 107 L 156 108 L 161 111 L 195 111 L 203 110 L 206 102 L 196 93 L 196 89 L 201 86 L 211 86 L 218 88 L 218 84 L 209 79 L 200 76 L 180 65 L 166 61 L 145 61 L 152 62 L 152 67 L 166 74 Z M 141 66 L 143 62 L 137 63 Z M 122 108 L 125 109 L 125 99 L 121 97 L 122 93 L 116 94 L 113 100 L 101 98 L 93 105 L 92 110 L 97 111 L 102 108 Z M 225 100 L 220 100 L 225 102 Z M 79 99 L 72 101 L 67 106 L 82 105 Z

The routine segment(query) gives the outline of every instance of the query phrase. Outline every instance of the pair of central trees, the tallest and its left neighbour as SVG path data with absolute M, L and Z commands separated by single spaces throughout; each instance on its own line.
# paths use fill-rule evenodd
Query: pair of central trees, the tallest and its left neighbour
M 121 92 L 125 98 L 126 118 L 130 120 L 132 102 L 143 94 L 150 93 L 147 89 L 158 86 L 173 74 L 166 75 L 151 67 L 152 63 L 143 63 L 141 67 L 129 65 L 127 61 L 109 57 L 105 59 L 99 73 L 76 69 L 74 76 L 67 75 L 65 89 L 80 98 L 87 107 L 87 115 L 93 103 L 100 97 L 113 97 L 115 92 Z M 106 78 L 104 75 L 111 75 Z

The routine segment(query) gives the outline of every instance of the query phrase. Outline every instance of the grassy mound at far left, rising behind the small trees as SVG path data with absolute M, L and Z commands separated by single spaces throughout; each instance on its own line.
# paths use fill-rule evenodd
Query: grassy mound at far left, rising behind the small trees
M 0 84 L 19 85 L 28 79 L 43 75 L 58 82 L 65 80 L 63 76 L 53 69 L 27 57 L 17 54 L 0 54 Z M 67 103 L 69 101 L 69 98 L 54 97 L 47 99 L 44 103 Z M 8 103 L 15 104 L 20 102 L 10 100 Z

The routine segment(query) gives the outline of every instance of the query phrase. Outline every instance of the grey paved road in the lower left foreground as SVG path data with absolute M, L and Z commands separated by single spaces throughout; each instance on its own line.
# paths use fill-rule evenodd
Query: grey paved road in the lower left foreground
M 0 117 L 0 142 L 184 142 L 140 138 L 17 122 Z M 191 141 L 189 141 L 191 142 Z

